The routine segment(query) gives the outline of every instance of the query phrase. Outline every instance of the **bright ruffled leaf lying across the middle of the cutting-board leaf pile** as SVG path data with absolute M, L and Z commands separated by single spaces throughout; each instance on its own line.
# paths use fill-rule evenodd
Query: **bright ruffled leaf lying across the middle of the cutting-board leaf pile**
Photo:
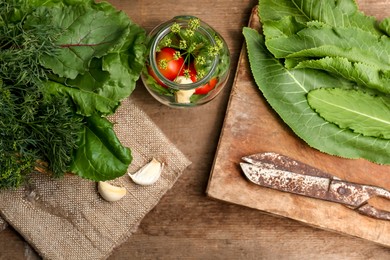
M 266 40 L 266 45 L 276 58 L 344 57 L 390 69 L 390 39 L 358 28 L 312 26 L 290 37 Z

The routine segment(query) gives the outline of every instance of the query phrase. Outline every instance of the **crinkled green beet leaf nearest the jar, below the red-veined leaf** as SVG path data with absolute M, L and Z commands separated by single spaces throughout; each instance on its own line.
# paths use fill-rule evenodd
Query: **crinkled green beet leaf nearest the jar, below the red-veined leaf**
M 138 26 L 129 28 L 127 37 L 122 38 L 123 42 L 120 47 L 111 50 L 102 58 L 94 58 L 91 60 L 88 71 L 84 75 L 78 75 L 76 79 L 62 80 L 64 84 L 80 89 L 80 92 L 92 92 L 93 97 L 98 94 L 101 97 L 112 101 L 119 101 L 128 97 L 136 87 L 136 81 L 140 77 L 143 69 L 146 47 L 143 45 L 145 34 L 144 30 Z M 67 90 L 72 91 L 72 90 Z M 84 107 L 80 113 L 91 115 L 91 113 L 99 112 L 103 115 L 113 113 L 117 105 L 110 105 L 110 108 L 101 109 L 99 104 L 94 106 L 84 106 L 84 102 L 80 103 L 77 100 L 77 95 L 74 96 L 79 107 Z M 88 111 L 88 112 L 87 112 Z

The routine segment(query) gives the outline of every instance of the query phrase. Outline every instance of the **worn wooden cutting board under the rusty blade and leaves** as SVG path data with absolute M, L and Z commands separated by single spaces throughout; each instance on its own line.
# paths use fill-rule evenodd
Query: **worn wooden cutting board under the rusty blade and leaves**
M 260 29 L 255 7 L 250 27 Z M 315 166 L 341 179 L 390 190 L 390 166 L 363 159 L 330 156 L 310 148 L 270 108 L 250 72 L 242 48 L 220 141 L 207 187 L 211 198 L 244 205 L 390 246 L 390 221 L 363 216 L 340 204 L 311 199 L 249 183 L 239 162 L 246 155 L 277 152 Z M 384 199 L 370 204 L 390 210 Z

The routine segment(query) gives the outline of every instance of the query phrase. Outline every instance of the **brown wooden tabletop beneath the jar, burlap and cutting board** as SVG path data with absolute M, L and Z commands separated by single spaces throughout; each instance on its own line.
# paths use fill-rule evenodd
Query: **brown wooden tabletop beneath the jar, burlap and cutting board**
M 286 218 L 231 205 L 205 194 L 223 124 L 238 56 L 241 29 L 255 0 L 189 2 L 111 0 L 150 31 L 181 14 L 198 16 L 226 39 L 232 55 L 227 87 L 213 102 L 191 110 L 165 107 L 139 82 L 132 98 L 144 109 L 192 165 L 143 219 L 136 233 L 110 259 L 389 259 L 390 249 Z M 359 0 L 360 9 L 377 18 L 390 16 L 387 1 Z M 386 4 L 387 2 L 387 4 Z M 12 228 L 0 232 L 0 259 L 38 259 Z

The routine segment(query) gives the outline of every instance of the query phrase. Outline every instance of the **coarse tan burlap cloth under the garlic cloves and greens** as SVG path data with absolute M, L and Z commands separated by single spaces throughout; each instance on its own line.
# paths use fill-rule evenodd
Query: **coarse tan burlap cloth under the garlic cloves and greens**
M 37 174 L 15 191 L 0 192 L 1 216 L 44 259 L 105 259 L 128 239 L 142 218 L 170 189 L 189 160 L 130 100 L 110 117 L 122 144 L 132 150 L 130 172 L 153 157 L 165 162 L 161 178 L 151 186 L 134 184 L 127 174 L 113 184 L 127 195 L 117 202 L 104 201 L 95 182 L 67 175 L 53 180 Z

